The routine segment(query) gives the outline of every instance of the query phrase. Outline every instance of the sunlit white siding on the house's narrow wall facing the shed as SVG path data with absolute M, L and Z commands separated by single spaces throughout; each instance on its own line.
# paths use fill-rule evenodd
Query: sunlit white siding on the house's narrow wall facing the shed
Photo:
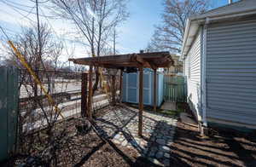
M 185 66 L 188 72 L 188 100 L 191 110 L 201 121 L 201 31 L 196 35 L 189 53 L 185 59 Z

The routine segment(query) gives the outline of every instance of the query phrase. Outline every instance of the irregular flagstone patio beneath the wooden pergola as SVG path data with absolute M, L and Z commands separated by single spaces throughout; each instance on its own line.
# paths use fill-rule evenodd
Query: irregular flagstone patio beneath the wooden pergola
M 171 145 L 177 120 L 160 113 L 143 111 L 143 137 L 137 135 L 138 110 L 114 107 L 96 119 L 99 131 L 115 144 L 137 150 L 140 156 L 154 164 L 170 165 Z

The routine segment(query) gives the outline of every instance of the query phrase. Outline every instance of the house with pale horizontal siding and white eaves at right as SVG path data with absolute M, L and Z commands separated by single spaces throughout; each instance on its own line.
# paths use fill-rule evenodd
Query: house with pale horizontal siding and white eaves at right
M 256 0 L 189 18 L 181 58 L 199 123 L 256 129 Z

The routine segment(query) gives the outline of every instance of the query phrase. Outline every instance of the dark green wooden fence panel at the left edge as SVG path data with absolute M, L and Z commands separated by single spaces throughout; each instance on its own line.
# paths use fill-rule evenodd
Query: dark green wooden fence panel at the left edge
M 0 161 L 15 151 L 18 112 L 19 71 L 0 67 Z

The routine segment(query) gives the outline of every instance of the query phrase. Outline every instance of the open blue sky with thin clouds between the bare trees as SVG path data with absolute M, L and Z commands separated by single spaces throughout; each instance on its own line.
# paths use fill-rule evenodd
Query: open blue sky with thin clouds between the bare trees
M 14 8 L 10 8 L 2 1 L 8 3 L 21 3 L 24 6 L 19 6 L 19 8 L 30 10 L 26 6 L 34 6 L 29 0 L 0 0 L 0 24 L 8 32 L 9 36 L 15 35 L 15 33 L 20 31 L 20 26 L 30 26 L 29 20 L 36 20 L 35 14 L 28 14 L 26 12 L 20 11 L 19 13 Z M 212 8 L 218 8 L 228 3 L 228 0 L 210 0 Z M 130 12 L 130 18 L 125 21 L 124 24 L 118 27 L 119 37 L 117 38 L 117 49 L 119 53 L 135 53 L 139 52 L 140 49 L 145 49 L 147 47 L 150 38 L 154 33 L 154 25 L 159 25 L 161 22 L 161 14 L 163 12 L 163 0 L 130 0 L 127 4 Z M 35 13 L 35 9 L 34 13 Z M 47 14 L 45 9 L 40 9 L 41 12 Z M 23 15 L 21 15 L 21 14 Z M 24 17 L 26 15 L 26 17 Z M 65 33 L 65 27 L 72 28 L 67 22 L 61 20 L 44 20 L 44 22 L 50 22 L 53 26 L 52 28 L 58 35 Z M 0 33 L 0 37 L 3 34 Z M 72 37 L 71 37 L 72 38 Z M 110 43 L 111 44 L 111 43 Z M 74 45 L 74 43 L 67 42 L 68 47 Z M 79 43 L 75 43 L 74 57 L 81 57 L 86 55 L 86 49 Z M 66 59 L 66 58 L 63 58 Z

